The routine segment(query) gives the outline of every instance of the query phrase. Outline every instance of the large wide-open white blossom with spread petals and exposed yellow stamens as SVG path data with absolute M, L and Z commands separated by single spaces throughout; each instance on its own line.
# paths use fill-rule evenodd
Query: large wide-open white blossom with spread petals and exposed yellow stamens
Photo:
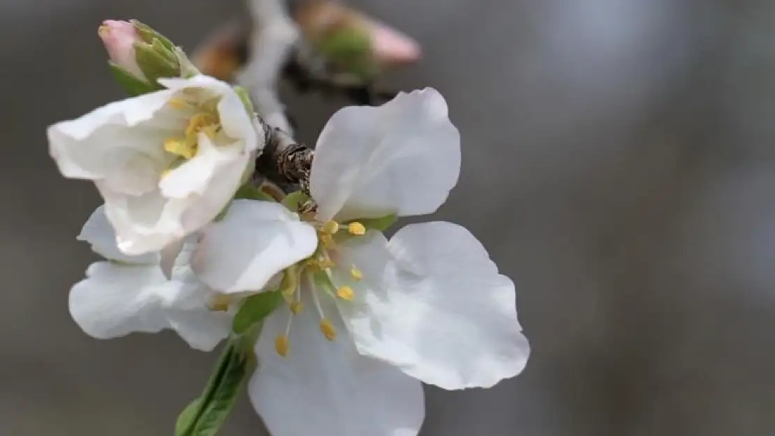
M 264 324 L 250 383 L 272 434 L 413 436 L 420 382 L 489 387 L 524 369 L 514 283 L 474 235 L 429 222 L 388 242 L 364 225 L 436 211 L 459 173 L 443 97 L 399 94 L 325 125 L 310 177 L 315 214 L 244 201 L 205 228 L 195 273 L 214 289 L 267 290 L 282 269 L 293 279 L 283 282 L 288 307 Z

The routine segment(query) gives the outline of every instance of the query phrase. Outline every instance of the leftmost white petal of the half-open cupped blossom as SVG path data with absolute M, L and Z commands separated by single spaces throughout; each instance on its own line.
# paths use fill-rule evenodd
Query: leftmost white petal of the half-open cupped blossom
M 157 91 L 115 101 L 71 121 L 48 128 L 49 150 L 65 177 L 98 180 L 129 177 L 134 160 L 160 158 L 164 129 L 153 121 L 171 98 L 171 91 Z M 140 166 L 141 167 L 141 166 Z M 152 187 L 156 180 L 135 176 L 135 183 Z

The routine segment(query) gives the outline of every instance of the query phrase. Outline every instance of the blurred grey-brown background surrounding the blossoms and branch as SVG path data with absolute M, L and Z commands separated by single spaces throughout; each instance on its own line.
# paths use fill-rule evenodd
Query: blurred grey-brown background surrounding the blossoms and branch
M 434 218 L 517 283 L 525 372 L 427 388 L 424 436 L 775 434 L 775 2 L 351 0 L 414 36 L 387 77 L 463 137 Z M 98 205 L 47 125 L 122 98 L 97 37 L 136 18 L 193 49 L 240 0 L 0 1 L 0 434 L 172 434 L 215 354 L 98 341 L 67 312 Z M 343 101 L 287 95 L 314 143 Z M 222 431 L 265 434 L 243 398 Z

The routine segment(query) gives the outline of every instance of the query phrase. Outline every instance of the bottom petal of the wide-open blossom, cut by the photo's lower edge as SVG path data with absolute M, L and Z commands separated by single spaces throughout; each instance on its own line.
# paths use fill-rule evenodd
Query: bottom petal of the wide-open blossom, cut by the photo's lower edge
M 335 314 L 334 307 L 327 307 Z M 257 345 L 260 362 L 248 393 L 276 436 L 415 436 L 425 417 L 422 385 L 356 353 L 341 320 L 336 341 L 319 331 L 312 305 L 294 318 L 286 358 L 274 350 L 287 309 L 272 314 Z

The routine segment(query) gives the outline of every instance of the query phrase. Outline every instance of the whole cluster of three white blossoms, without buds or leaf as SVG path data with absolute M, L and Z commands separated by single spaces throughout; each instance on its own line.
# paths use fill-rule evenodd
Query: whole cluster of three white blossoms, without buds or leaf
M 249 385 L 276 436 L 417 434 L 421 382 L 490 387 L 522 372 L 514 283 L 474 235 L 442 221 L 382 233 L 457 183 L 460 135 L 439 92 L 339 110 L 309 194 L 257 200 L 237 195 L 263 136 L 236 91 L 202 75 L 159 83 L 48 131 L 61 173 L 104 199 L 79 239 L 106 261 L 70 294 L 88 335 L 172 329 L 211 350 L 252 297 L 276 295 Z

